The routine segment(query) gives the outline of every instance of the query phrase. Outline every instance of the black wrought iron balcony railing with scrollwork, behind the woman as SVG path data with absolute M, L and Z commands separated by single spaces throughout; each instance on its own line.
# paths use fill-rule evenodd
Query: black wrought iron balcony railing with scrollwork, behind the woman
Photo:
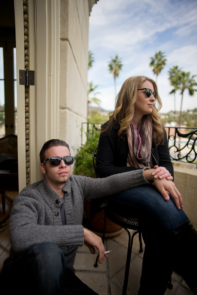
M 102 123 L 82 123 L 86 140 L 93 137 Z M 172 160 L 196 164 L 197 168 L 197 128 L 165 127 Z M 83 136 L 83 134 L 82 134 Z

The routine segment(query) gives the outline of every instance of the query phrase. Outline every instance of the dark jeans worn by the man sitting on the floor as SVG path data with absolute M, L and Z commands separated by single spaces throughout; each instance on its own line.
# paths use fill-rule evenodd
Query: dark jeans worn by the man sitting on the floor
M 5 284 L 9 294 L 98 295 L 66 268 L 62 251 L 49 242 L 34 244 L 6 265 L 1 274 L 1 286 Z

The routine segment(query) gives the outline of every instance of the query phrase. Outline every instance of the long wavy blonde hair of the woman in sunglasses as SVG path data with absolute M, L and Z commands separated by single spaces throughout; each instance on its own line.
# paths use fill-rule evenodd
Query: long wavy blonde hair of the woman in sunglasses
M 150 81 L 153 84 L 154 91 L 157 92 L 157 99 L 151 114 L 146 115 L 153 127 L 153 142 L 156 146 L 163 144 L 163 125 L 160 121 L 159 110 L 162 107 L 162 102 L 158 94 L 157 85 L 154 80 L 145 76 L 136 76 L 128 78 L 120 89 L 119 94 L 116 97 L 115 110 L 109 113 L 109 122 L 107 127 L 101 131 L 102 133 L 111 133 L 114 124 L 118 123 L 120 126 L 118 136 L 124 138 L 127 127 L 131 124 L 134 112 L 135 102 L 137 99 L 137 90 L 140 88 L 143 82 Z

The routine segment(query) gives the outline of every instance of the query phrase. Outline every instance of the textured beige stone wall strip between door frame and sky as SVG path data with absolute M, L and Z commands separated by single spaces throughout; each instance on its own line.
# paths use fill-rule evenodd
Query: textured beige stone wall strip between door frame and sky
M 87 116 L 88 30 L 89 1 L 61 0 L 59 138 L 74 147 Z

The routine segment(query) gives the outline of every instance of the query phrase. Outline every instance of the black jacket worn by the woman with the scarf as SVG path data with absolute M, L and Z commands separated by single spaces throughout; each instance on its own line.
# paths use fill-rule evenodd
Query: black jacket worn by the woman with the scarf
M 103 124 L 103 127 L 107 123 Z M 101 129 L 103 129 L 101 127 Z M 115 125 L 110 135 L 100 134 L 98 141 L 98 149 L 96 154 L 96 171 L 99 177 L 107 177 L 113 174 L 138 170 L 135 167 L 127 167 L 127 156 L 129 146 L 127 136 L 125 140 L 119 138 L 119 125 Z M 153 165 L 165 167 L 173 176 L 173 166 L 170 159 L 170 153 L 165 132 L 165 140 L 163 145 L 156 147 L 152 143 L 151 157 Z

